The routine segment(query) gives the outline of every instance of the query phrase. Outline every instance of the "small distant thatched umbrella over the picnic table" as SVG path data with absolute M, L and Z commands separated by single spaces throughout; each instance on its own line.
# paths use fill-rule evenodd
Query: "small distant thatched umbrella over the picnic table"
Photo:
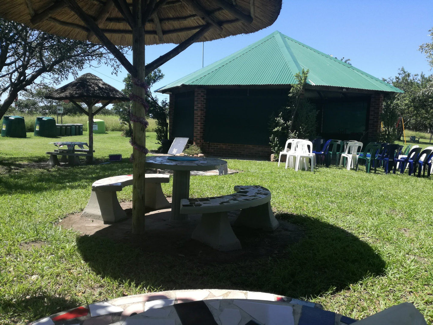
M 89 117 L 90 162 L 93 161 L 93 116 L 108 104 L 129 101 L 129 97 L 125 96 L 121 91 L 118 91 L 116 88 L 103 82 L 101 78 L 91 73 L 86 73 L 74 81 L 52 91 L 47 94 L 45 98 L 57 101 L 69 100 Z M 87 112 L 77 103 L 86 104 Z M 103 105 L 99 107 L 97 111 L 93 112 L 93 106 L 97 103 L 102 103 Z

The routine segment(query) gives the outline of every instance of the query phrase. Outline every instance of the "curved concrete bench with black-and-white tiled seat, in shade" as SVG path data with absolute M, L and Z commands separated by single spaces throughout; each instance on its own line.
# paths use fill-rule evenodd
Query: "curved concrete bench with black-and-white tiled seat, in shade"
M 182 214 L 202 214 L 192 238 L 217 250 L 242 249 L 227 217 L 228 211 L 241 212 L 235 226 L 273 231 L 278 221 L 271 209 L 271 192 L 262 186 L 235 186 L 236 193 L 212 198 L 184 198 Z

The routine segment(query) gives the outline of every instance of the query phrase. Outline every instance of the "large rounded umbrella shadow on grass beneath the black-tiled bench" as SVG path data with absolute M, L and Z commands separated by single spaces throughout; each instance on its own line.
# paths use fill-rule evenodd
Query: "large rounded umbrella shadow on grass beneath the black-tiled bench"
M 77 237 L 78 250 L 101 276 L 160 290 L 242 289 L 291 297 L 337 292 L 384 272 L 367 243 L 342 228 L 308 216 L 280 214 L 287 237 L 234 228 L 243 250 L 219 252 L 172 232 L 123 232 L 116 224 Z M 244 253 L 245 252 L 245 253 Z

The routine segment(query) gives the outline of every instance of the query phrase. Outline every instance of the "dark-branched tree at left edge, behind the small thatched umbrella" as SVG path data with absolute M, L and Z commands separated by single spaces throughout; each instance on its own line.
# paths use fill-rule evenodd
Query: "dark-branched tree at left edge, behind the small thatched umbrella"
M 18 93 L 36 81 L 58 84 L 70 74 L 77 77 L 86 65 L 107 64 L 113 73 L 120 66 L 101 45 L 53 36 L 3 19 L 0 23 L 0 96 L 7 92 L 0 118 Z

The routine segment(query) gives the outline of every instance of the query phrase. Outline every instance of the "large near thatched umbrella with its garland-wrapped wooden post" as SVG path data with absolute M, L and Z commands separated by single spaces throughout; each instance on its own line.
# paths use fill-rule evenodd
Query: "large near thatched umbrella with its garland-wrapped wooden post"
M 282 0 L 0 1 L 0 16 L 71 39 L 100 42 L 132 75 L 132 231 L 144 232 L 145 76 L 194 42 L 253 33 L 277 19 Z M 175 43 L 145 65 L 145 45 Z M 115 45 L 132 45 L 132 64 Z M 144 108 L 144 109 L 143 109 Z

